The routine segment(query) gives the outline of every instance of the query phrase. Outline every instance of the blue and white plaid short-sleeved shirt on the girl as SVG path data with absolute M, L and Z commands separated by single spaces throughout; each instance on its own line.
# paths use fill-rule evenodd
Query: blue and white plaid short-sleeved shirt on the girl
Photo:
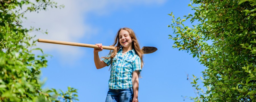
M 123 49 L 120 48 L 115 57 L 112 59 L 112 67 L 110 72 L 110 79 L 108 85 L 110 89 L 127 89 L 133 87 L 132 72 L 141 71 L 141 58 L 134 50 L 128 51 L 122 57 Z M 106 57 L 110 57 L 108 54 Z M 107 66 L 111 63 L 110 59 L 102 58 Z

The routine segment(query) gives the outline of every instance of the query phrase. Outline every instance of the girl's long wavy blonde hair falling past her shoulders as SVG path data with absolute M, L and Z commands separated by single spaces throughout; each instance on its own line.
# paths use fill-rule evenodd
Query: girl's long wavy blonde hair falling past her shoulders
M 126 30 L 126 31 L 129 32 L 129 35 L 130 35 L 131 40 L 132 40 L 132 47 L 133 47 L 133 49 L 135 50 L 135 53 L 136 53 L 136 54 L 140 57 L 140 59 L 141 59 L 141 69 L 142 69 L 142 67 L 143 67 L 143 51 L 142 51 L 141 48 L 140 48 L 140 45 L 139 45 L 139 43 L 138 43 L 138 41 L 137 41 L 137 38 L 136 38 L 135 33 L 133 32 L 132 29 L 127 28 L 127 27 L 120 28 L 120 29 L 117 31 L 117 34 L 116 34 L 116 36 L 115 36 L 115 41 L 114 41 L 113 45 L 111 45 L 111 46 L 115 46 L 115 44 L 117 44 L 117 45 L 115 46 L 115 50 L 113 50 L 113 51 L 110 50 L 111 56 L 110 56 L 110 57 L 102 57 L 102 58 L 111 59 L 111 61 L 110 61 L 110 63 L 111 63 L 110 68 L 111 68 L 111 67 L 112 67 L 112 59 L 115 57 L 117 51 L 122 47 L 121 44 L 120 44 L 120 42 L 119 42 L 119 32 L 120 32 L 121 30 Z M 110 69 L 110 68 L 109 68 L 109 69 Z M 139 77 L 141 77 L 141 72 L 139 72 Z

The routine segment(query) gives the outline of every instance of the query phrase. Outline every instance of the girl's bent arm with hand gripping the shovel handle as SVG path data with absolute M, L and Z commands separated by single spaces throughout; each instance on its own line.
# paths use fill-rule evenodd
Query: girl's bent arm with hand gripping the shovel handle
M 102 44 L 96 44 L 99 46 L 99 48 L 101 48 Z M 106 67 L 107 64 L 104 62 L 104 61 L 100 61 L 100 57 L 99 57 L 99 53 L 100 51 L 102 51 L 103 48 L 101 49 L 97 49 L 97 48 L 94 48 L 94 51 L 93 51 L 93 54 L 94 54 L 94 64 L 96 66 L 97 69 L 101 69 L 103 67 Z

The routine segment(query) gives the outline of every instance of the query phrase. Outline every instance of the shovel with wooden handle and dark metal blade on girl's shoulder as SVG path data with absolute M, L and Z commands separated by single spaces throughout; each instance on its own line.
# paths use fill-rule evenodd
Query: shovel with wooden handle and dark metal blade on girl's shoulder
M 76 42 L 66 42 L 66 41 L 55 41 L 55 40 L 47 40 L 47 39 L 38 39 L 38 42 L 44 42 L 44 43 L 51 43 L 51 44 L 62 44 L 62 45 L 70 45 L 70 46 L 80 46 L 80 47 L 88 47 L 88 48 L 98 48 L 97 45 L 94 44 L 83 44 L 83 43 L 76 43 Z M 101 48 L 106 50 L 114 50 L 115 47 L 112 46 L 102 46 Z M 150 54 L 157 50 L 156 47 L 149 47 L 144 46 L 141 48 L 141 50 L 144 52 L 144 54 Z

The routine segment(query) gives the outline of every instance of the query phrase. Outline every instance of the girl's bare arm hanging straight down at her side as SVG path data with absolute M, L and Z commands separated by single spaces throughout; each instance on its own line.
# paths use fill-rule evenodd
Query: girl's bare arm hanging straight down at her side
M 139 102 L 138 101 L 139 70 L 133 71 L 132 83 L 133 83 L 133 102 Z

